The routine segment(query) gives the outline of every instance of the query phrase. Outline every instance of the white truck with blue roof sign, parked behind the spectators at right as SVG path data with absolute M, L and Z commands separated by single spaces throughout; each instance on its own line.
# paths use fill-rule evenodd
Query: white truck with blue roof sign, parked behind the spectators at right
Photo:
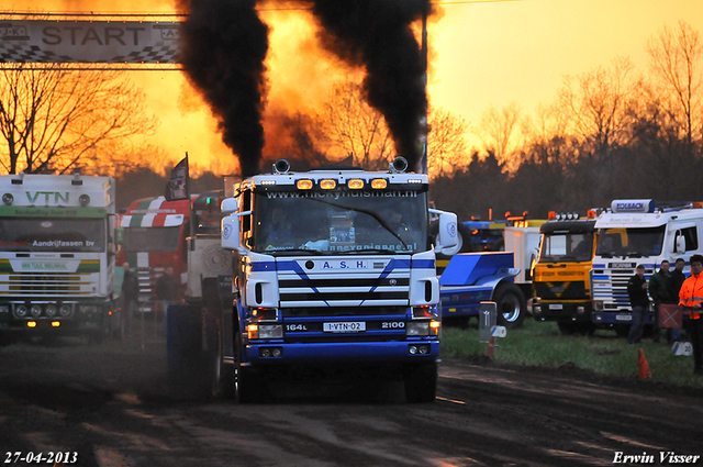
M 591 269 L 593 323 L 615 329 L 626 335 L 632 322 L 627 280 L 637 265 L 645 266 L 645 277 L 679 257 L 687 260 L 703 253 L 703 209 L 685 203 L 655 207 L 648 199 L 615 200 L 609 212 L 595 221 L 598 245 Z M 648 313 L 646 324 L 654 323 Z

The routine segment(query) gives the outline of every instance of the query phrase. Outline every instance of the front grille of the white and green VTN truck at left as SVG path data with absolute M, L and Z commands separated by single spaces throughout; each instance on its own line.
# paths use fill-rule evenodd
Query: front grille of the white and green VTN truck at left
M 3 296 L 76 297 L 94 293 L 90 274 L 76 273 L 13 273 L 0 281 Z

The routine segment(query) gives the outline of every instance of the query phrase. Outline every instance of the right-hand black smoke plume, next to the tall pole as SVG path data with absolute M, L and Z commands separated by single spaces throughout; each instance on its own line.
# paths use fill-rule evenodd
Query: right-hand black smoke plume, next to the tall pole
M 395 151 L 419 171 L 427 108 L 425 63 L 411 23 L 429 15 L 429 0 L 314 0 L 313 14 L 328 35 L 324 46 L 364 66 L 369 104 L 380 111 Z

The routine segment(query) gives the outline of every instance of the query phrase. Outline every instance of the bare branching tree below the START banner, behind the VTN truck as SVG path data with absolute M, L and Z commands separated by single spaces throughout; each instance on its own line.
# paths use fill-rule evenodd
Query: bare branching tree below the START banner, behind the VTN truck
M 123 157 L 131 136 L 156 129 L 156 119 L 143 114 L 143 93 L 123 74 L 66 66 L 0 70 L 0 164 L 9 174 L 65 174 Z

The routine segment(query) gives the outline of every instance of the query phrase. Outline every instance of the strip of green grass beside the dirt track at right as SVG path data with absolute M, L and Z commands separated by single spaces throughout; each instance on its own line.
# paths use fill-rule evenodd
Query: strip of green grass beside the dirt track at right
M 476 324 L 476 321 L 471 321 Z M 671 345 L 645 338 L 628 345 L 614 331 L 598 330 L 592 336 L 562 335 L 556 323 L 525 320 L 523 326 L 507 330 L 507 335 L 495 340 L 492 360 L 503 365 L 538 366 L 548 368 L 577 367 L 598 375 L 637 378 L 638 351 L 645 353 L 651 381 L 680 387 L 703 388 L 703 376 L 693 375 L 693 357 L 674 356 Z M 476 326 L 443 329 L 442 357 L 476 359 L 486 352 L 479 343 Z

